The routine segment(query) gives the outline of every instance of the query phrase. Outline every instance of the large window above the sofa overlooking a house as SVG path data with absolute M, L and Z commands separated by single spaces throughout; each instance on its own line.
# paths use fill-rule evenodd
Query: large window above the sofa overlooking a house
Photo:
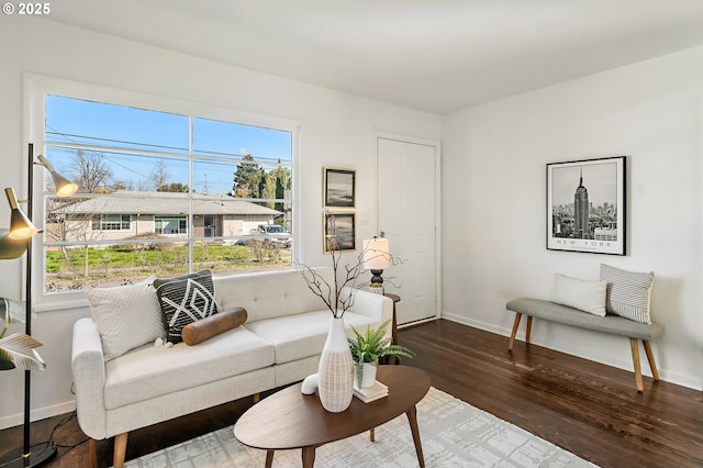
M 45 178 L 45 294 L 291 267 L 297 122 L 36 79 L 40 152 L 80 187 L 59 199 Z

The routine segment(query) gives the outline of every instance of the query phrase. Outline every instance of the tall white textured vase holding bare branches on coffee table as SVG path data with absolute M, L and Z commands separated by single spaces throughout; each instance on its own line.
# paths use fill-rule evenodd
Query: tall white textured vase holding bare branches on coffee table
M 331 413 L 349 408 L 354 397 L 354 360 L 344 330 L 344 317 L 333 317 L 317 369 L 317 394 Z

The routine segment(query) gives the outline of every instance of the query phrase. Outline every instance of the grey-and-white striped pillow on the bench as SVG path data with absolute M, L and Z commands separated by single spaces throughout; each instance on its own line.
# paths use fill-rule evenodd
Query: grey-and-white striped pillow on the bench
M 605 310 L 615 315 L 651 324 L 649 298 L 654 272 L 625 271 L 601 264 L 601 281 L 607 281 Z

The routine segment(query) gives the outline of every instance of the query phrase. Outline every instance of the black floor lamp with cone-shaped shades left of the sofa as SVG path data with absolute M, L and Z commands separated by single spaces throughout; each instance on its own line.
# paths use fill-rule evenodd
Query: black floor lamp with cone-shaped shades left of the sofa
M 8 202 L 10 203 L 10 232 L 7 235 L 7 239 L 0 239 L 10 245 L 15 243 L 22 245 L 22 249 L 26 252 L 25 255 L 25 335 L 32 336 L 32 236 L 40 233 L 40 231 L 32 223 L 33 215 L 33 199 L 34 199 L 34 166 L 43 166 L 52 176 L 54 181 L 54 190 L 58 197 L 69 197 L 78 190 L 78 186 L 72 183 L 66 177 L 58 174 L 52 165 L 42 155 L 34 160 L 34 145 L 29 145 L 29 167 L 27 167 L 27 200 L 26 200 L 26 215 L 19 207 L 18 199 L 12 188 L 5 188 L 5 194 Z M 0 242 L 0 246 L 2 245 Z M 16 247 L 15 247 L 16 248 Z M 21 255 L 21 253 L 20 253 Z M 0 257 L 10 258 L 10 257 Z M 15 257 L 16 258 L 16 257 Z M 56 447 L 48 442 L 42 442 L 35 445 L 31 445 L 30 442 L 30 390 L 31 390 L 31 377 L 32 371 L 30 369 L 24 370 L 24 438 L 23 447 L 21 449 L 12 450 L 10 454 L 0 458 L 0 467 L 36 467 L 51 460 L 56 455 Z

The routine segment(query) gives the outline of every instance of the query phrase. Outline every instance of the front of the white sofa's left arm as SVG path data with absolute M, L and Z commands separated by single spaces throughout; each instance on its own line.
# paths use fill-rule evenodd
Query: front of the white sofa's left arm
M 74 324 L 71 369 L 78 424 L 90 437 L 103 439 L 107 437 L 105 363 L 100 333 L 92 319 L 80 319 Z

